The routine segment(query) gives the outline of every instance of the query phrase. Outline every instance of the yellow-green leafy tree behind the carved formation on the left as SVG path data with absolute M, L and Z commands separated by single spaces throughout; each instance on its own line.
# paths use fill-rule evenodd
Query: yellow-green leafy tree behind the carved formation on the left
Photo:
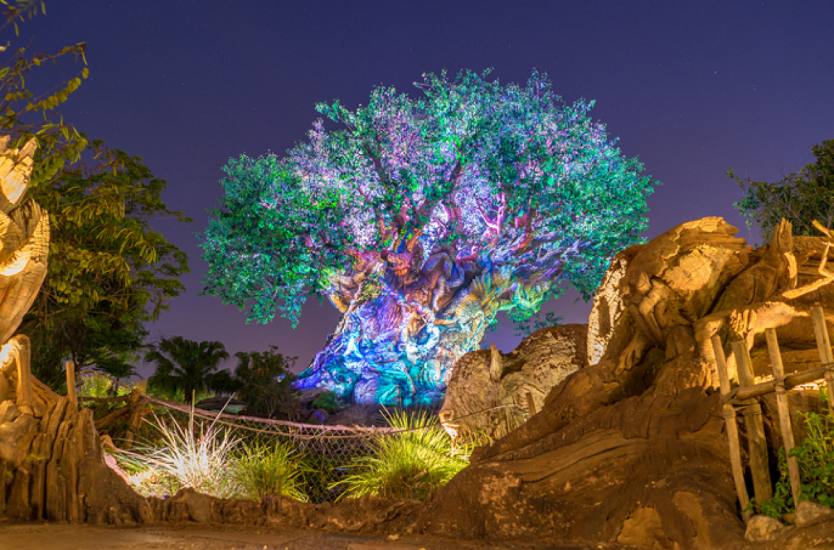
M 173 216 L 162 202 L 165 182 L 141 158 L 90 145 L 92 167 L 75 164 L 33 186 L 30 195 L 50 214 L 48 273 L 23 331 L 33 340 L 38 372 L 72 359 L 128 378 L 158 318 L 184 289 L 187 258 L 150 228 Z

